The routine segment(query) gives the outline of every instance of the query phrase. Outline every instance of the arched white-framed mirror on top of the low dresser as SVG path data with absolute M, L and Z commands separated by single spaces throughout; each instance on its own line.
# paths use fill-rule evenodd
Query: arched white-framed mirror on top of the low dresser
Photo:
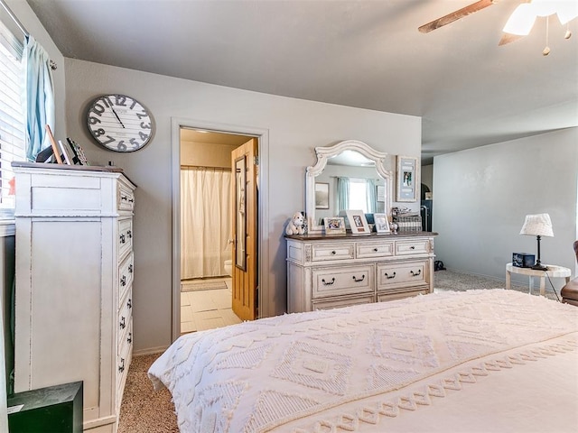
M 323 217 L 343 216 L 348 208 L 390 215 L 393 181 L 386 170 L 387 153 L 347 140 L 316 147 L 315 154 L 317 162 L 305 174 L 308 233 L 321 234 Z

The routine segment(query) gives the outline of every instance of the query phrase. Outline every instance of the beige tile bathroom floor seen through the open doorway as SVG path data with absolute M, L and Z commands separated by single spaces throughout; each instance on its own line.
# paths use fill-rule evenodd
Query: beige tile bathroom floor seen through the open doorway
M 199 284 L 205 281 L 199 280 Z M 181 334 L 241 323 L 231 309 L 231 279 L 220 281 L 225 281 L 227 289 L 181 291 Z M 188 280 L 186 284 L 191 286 L 194 281 Z

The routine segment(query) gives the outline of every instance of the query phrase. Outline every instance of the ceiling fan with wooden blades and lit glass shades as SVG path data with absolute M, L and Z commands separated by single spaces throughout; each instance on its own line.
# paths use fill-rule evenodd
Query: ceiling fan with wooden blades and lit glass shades
M 433 20 L 431 23 L 426 23 L 418 30 L 422 33 L 432 32 L 439 29 L 446 24 L 453 23 L 461 18 L 474 14 L 488 6 L 499 3 L 499 0 L 479 0 L 452 12 L 451 14 L 443 15 L 441 18 Z M 517 41 L 529 34 L 536 22 L 538 16 L 548 17 L 556 14 L 558 20 L 563 25 L 572 21 L 578 16 L 578 2 L 576 0 L 523 0 L 520 5 L 509 16 L 508 22 L 502 30 L 502 39 L 499 45 L 504 45 L 509 42 Z M 572 32 L 566 30 L 565 39 L 569 39 Z M 546 47 L 547 48 L 547 47 Z M 547 49 L 549 52 L 549 49 Z M 547 53 L 544 51 L 545 55 Z

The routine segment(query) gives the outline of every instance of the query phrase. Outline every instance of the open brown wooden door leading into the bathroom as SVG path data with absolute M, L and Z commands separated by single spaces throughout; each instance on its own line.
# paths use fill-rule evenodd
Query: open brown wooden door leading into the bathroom
M 233 167 L 233 311 L 241 320 L 257 317 L 257 140 L 231 152 Z

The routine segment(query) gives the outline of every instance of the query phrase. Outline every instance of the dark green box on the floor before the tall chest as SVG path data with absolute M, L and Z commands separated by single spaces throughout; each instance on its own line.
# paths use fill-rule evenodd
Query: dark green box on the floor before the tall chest
M 8 396 L 10 433 L 82 433 L 82 382 Z

